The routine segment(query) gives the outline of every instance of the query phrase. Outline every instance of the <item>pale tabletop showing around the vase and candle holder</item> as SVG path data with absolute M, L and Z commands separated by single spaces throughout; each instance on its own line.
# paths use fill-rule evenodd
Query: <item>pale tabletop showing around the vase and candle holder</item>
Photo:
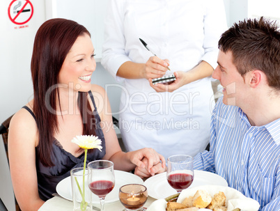
M 148 199 L 145 203 L 145 207 L 147 208 L 153 201 L 155 201 L 155 198 L 152 198 L 148 196 Z M 95 207 L 100 208 L 100 205 L 94 204 Z M 120 203 L 120 201 L 116 201 L 114 203 L 105 203 L 104 210 L 105 211 L 123 211 L 125 207 Z M 48 201 L 46 201 L 42 207 L 38 211 L 72 211 L 73 210 L 73 203 L 72 201 L 68 201 L 65 198 L 62 198 L 60 196 L 54 196 L 53 198 L 50 198 Z

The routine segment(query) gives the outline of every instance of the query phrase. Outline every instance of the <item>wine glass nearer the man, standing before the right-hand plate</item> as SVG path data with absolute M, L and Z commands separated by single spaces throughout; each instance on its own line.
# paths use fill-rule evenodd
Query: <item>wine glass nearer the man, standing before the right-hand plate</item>
M 192 185 L 193 160 L 193 157 L 189 155 L 172 155 L 167 159 L 167 181 L 178 193 Z

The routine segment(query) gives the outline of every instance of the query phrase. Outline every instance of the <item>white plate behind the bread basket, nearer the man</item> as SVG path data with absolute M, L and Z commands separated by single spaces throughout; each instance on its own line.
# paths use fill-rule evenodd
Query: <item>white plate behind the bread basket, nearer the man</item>
M 177 194 L 176 190 L 173 189 L 166 179 L 166 172 L 159 173 L 153 177 L 148 178 L 144 185 L 148 189 L 148 195 L 150 197 L 160 199 Z M 211 173 L 208 171 L 194 170 L 194 181 L 190 187 L 195 187 L 199 185 L 221 185 L 228 186 L 228 182 L 220 175 Z

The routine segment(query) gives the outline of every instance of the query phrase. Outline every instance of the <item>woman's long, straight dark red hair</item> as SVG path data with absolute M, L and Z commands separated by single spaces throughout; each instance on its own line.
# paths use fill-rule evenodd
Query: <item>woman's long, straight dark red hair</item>
M 53 166 L 52 143 L 54 132 L 59 130 L 56 118 L 56 96 L 59 96 L 59 72 L 66 55 L 78 36 L 90 33 L 69 19 L 49 19 L 36 33 L 31 58 L 33 80 L 33 113 L 38 125 L 38 158 L 45 166 Z M 50 90 L 52 90 L 50 92 Z M 48 97 L 46 97 L 48 95 Z M 59 100 L 59 99 L 58 99 Z M 60 102 L 58 102 L 60 105 Z M 83 120 L 83 134 L 95 134 L 90 121 L 94 119 L 88 102 L 88 93 L 79 93 L 79 110 Z

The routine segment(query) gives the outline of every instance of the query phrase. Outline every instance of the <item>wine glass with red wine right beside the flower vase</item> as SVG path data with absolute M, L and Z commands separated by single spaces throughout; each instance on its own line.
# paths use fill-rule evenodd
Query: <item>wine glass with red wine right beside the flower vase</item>
M 105 196 L 114 189 L 114 163 L 96 160 L 88 163 L 88 187 L 100 198 L 101 211 L 104 211 Z

